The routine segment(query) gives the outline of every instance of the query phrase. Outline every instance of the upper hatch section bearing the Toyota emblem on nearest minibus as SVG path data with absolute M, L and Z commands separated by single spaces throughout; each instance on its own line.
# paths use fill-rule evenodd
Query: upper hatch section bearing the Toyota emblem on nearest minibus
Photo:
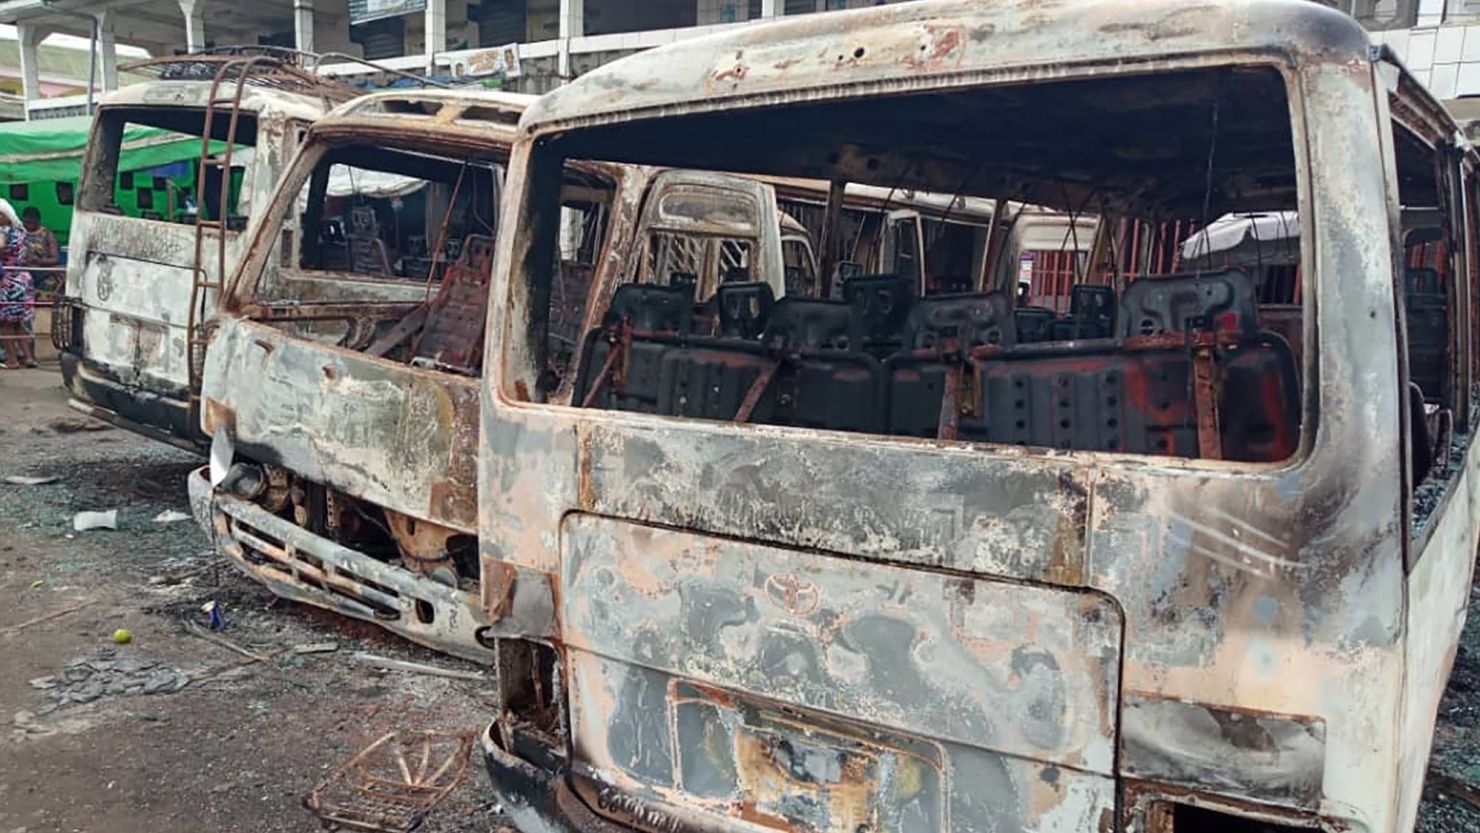
M 591 515 L 567 516 L 561 540 L 562 626 L 574 651 L 1111 771 L 1120 633 L 1103 596 Z

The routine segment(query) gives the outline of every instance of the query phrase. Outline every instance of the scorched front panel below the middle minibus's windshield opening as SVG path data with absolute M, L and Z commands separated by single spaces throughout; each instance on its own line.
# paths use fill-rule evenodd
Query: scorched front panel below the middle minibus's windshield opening
M 234 439 L 250 457 L 404 515 L 477 528 L 475 379 L 235 317 L 222 318 L 206 365 L 203 397 L 234 413 Z

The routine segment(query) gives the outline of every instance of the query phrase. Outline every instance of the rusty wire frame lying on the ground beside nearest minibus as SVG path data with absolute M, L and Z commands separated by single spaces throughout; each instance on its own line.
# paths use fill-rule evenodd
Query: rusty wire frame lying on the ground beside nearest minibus
M 462 781 L 474 732 L 388 732 L 303 799 L 326 826 L 407 833 Z

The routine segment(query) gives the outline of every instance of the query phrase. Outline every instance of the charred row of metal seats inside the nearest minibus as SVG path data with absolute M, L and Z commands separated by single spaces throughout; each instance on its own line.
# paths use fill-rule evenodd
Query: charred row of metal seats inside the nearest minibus
M 771 326 L 756 340 L 693 334 L 678 317 L 663 328 L 608 317 L 583 343 L 574 402 L 1061 450 L 1243 462 L 1292 454 L 1299 441 L 1294 354 L 1279 334 L 1258 328 L 1243 283 L 1159 280 L 1169 281 L 1154 287 L 1159 296 L 1212 281 L 1211 314 L 1194 305 L 1165 320 L 1172 331 L 1020 345 L 1005 296 L 934 296 L 912 311 L 904 346 L 882 361 L 857 349 L 876 343 L 878 333 L 858 337 L 857 320 L 850 337 L 836 331 L 845 302 L 776 303 L 773 314 L 820 315 L 821 324 L 813 320 L 818 343 L 787 342 Z M 931 305 L 958 309 L 931 327 L 922 323 Z M 1131 324 L 1123 309 L 1120 318 Z

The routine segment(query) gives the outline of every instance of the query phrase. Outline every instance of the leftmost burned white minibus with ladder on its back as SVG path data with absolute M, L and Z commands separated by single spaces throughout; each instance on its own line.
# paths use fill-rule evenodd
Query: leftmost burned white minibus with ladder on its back
M 223 83 L 215 84 L 223 67 Z M 221 281 L 243 256 L 308 126 L 354 92 L 296 67 L 249 68 L 229 56 L 167 59 L 139 71 L 160 80 L 111 93 L 93 123 L 53 340 L 73 407 L 195 450 L 204 438 L 191 419 L 191 394 Z M 164 129 L 161 145 L 194 142 L 198 152 L 157 169 L 118 170 L 124 133 L 141 127 Z

